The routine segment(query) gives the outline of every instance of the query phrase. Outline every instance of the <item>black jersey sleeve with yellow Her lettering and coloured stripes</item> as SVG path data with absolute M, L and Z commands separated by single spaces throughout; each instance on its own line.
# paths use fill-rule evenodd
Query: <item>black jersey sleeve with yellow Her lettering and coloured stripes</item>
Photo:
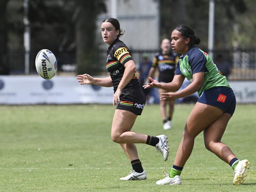
M 130 51 L 126 46 L 116 45 L 113 47 L 114 57 L 124 65 L 127 61 L 133 60 Z

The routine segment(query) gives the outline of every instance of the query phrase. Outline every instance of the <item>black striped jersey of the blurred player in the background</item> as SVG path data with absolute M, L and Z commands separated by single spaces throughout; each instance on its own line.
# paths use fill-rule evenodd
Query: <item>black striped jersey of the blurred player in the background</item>
M 171 81 L 173 80 L 176 67 L 176 57 L 177 55 L 172 51 L 170 51 L 169 54 L 162 54 L 161 52 L 156 53 L 152 62 L 152 66 L 155 68 L 158 67 L 159 79 L 169 79 Z

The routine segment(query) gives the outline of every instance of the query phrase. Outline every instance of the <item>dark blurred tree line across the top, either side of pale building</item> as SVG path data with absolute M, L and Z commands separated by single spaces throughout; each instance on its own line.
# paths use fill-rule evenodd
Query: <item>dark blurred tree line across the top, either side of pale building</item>
M 121 0 L 129 1 L 129 0 Z M 153 0 L 160 3 L 161 39 L 179 24 L 193 28 L 208 46 L 208 0 Z M 78 73 L 95 74 L 96 19 L 106 0 L 30 0 L 32 50 L 75 54 Z M 254 0 L 215 0 L 215 49 L 256 47 Z M 0 0 L 0 74 L 8 71 L 8 52 L 24 50 L 23 0 Z M 86 54 L 85 54 L 86 53 Z M 93 64 L 93 65 L 92 65 Z M 102 64 L 101 64 L 102 65 Z

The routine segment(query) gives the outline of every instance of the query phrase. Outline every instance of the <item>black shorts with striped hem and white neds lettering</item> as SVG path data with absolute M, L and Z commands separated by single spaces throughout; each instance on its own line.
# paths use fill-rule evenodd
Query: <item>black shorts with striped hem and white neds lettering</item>
M 145 103 L 146 97 L 139 85 L 134 89 L 122 91 L 120 95 L 120 102 L 116 109 L 130 111 L 136 115 L 141 115 Z

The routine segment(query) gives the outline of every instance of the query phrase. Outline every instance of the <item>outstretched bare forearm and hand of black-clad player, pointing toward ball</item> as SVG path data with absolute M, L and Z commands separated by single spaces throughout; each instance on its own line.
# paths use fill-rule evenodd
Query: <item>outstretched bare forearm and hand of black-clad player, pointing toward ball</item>
M 112 79 L 110 76 L 106 78 L 93 78 L 89 74 L 78 75 L 78 82 L 81 85 L 99 85 L 102 87 L 113 87 Z

